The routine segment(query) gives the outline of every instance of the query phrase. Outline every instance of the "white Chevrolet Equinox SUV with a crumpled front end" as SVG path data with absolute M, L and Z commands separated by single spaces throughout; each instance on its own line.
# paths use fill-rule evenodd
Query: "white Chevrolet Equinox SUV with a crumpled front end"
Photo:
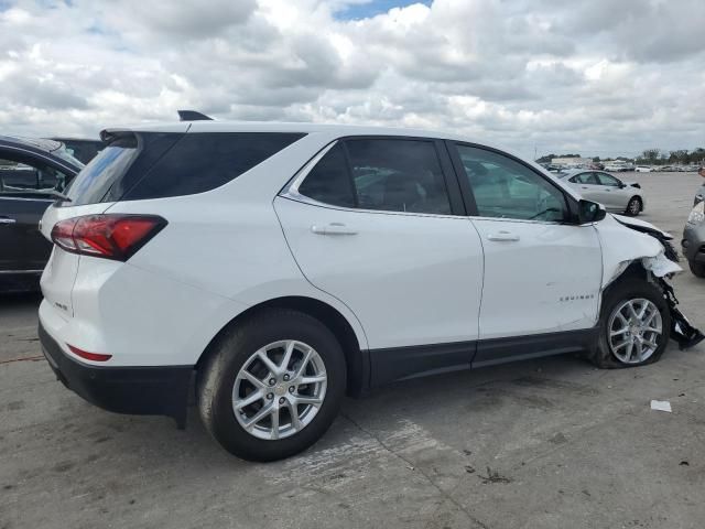
M 346 392 L 560 353 L 634 366 L 669 341 L 663 244 L 507 152 L 302 123 L 102 138 L 42 220 L 46 358 L 88 401 L 180 427 L 195 380 L 240 457 L 304 450 Z

